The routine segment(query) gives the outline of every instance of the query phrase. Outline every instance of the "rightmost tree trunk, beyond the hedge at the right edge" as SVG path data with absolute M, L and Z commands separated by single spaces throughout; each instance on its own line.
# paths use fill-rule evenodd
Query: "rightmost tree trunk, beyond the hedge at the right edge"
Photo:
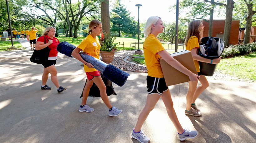
M 255 14 L 256 11 L 253 11 L 253 4 L 247 4 L 248 6 L 248 13 L 246 17 L 246 27 L 245 27 L 245 35 L 244 35 L 244 40 L 243 44 L 246 45 L 250 43 L 250 33 L 251 33 L 251 28 L 252 28 L 252 17 Z

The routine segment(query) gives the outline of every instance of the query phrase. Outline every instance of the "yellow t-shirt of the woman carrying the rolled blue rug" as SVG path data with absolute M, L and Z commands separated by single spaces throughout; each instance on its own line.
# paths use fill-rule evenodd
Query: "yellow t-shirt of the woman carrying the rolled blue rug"
M 82 49 L 84 53 L 100 59 L 100 41 L 97 36 L 93 38 L 92 35 L 89 34 L 77 47 Z M 84 64 L 84 71 L 92 72 L 97 70 L 95 68 L 89 68 Z

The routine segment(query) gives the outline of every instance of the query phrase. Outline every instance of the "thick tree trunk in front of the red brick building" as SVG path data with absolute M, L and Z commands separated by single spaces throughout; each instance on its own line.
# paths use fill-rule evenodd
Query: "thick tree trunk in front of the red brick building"
M 225 46 L 227 47 L 229 47 L 229 41 L 230 41 L 230 32 L 231 32 L 234 3 L 235 2 L 233 0 L 227 0 L 226 20 L 225 20 L 225 28 L 224 28 L 224 35 L 223 35 L 223 41 L 225 41 Z

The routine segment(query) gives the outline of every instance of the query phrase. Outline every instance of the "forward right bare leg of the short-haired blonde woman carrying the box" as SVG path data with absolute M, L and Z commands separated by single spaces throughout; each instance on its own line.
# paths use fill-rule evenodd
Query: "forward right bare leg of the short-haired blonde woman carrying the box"
M 180 122 L 177 118 L 176 112 L 173 108 L 173 102 L 172 102 L 172 97 L 171 97 L 169 88 L 168 88 L 168 90 L 163 92 L 163 95 L 161 96 L 161 98 L 164 102 L 164 105 L 166 107 L 166 111 L 167 111 L 167 114 L 168 114 L 169 118 L 172 120 L 172 123 L 174 124 L 178 133 L 182 134 L 182 132 L 184 130 L 183 130 L 183 128 L 182 128 L 182 126 L 181 126 L 181 124 L 180 124 Z

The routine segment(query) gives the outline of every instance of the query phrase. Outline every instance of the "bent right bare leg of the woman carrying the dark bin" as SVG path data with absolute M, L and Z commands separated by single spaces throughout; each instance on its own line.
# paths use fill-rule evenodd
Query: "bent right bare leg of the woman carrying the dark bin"
M 201 85 L 197 87 L 197 90 L 194 93 L 193 99 L 191 103 L 195 103 L 197 97 L 202 94 L 202 92 L 207 89 L 209 86 L 209 82 L 207 81 L 206 77 L 204 75 L 200 75 L 199 81 L 201 82 Z

